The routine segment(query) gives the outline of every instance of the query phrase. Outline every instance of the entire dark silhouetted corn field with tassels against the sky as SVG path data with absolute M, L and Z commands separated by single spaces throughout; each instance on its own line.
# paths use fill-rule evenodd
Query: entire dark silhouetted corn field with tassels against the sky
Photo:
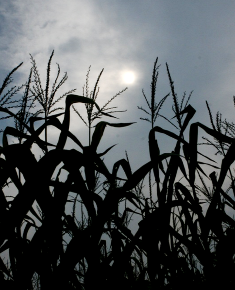
M 214 121 L 208 103 L 210 127 L 195 122 L 191 93 L 178 98 L 168 64 L 170 93 L 157 101 L 156 59 L 151 96 L 143 91 L 146 108 L 138 107 L 150 123 L 150 161 L 133 172 L 126 154 L 109 171 L 103 157 L 115 148 L 98 153 L 98 146 L 107 126 L 131 129 L 132 123 L 115 120 L 120 111 L 110 106 L 125 89 L 99 106 L 102 71 L 90 92 L 89 68 L 83 96 L 70 90 L 58 97 L 67 74 L 60 79 L 58 65 L 56 79 L 50 80 L 52 57 L 53 52 L 45 88 L 33 56 L 25 84 L 10 88 L 20 64 L 0 88 L 0 288 L 232 289 L 235 124 L 219 113 Z M 167 98 L 175 116 L 168 122 L 178 134 L 155 126 L 158 118 L 166 119 L 161 109 Z M 65 109 L 56 107 L 62 100 Z M 88 146 L 69 130 L 71 111 L 89 131 Z M 12 126 L 5 126 L 8 119 Z M 57 144 L 48 142 L 49 127 L 59 132 Z M 221 156 L 220 164 L 201 150 L 199 130 Z M 161 154 L 156 136 L 162 134 L 171 139 L 171 152 Z M 80 150 L 65 149 L 69 139 Z M 43 152 L 40 158 L 35 146 Z M 120 170 L 125 178 L 118 176 Z M 136 231 L 132 220 L 139 221 Z

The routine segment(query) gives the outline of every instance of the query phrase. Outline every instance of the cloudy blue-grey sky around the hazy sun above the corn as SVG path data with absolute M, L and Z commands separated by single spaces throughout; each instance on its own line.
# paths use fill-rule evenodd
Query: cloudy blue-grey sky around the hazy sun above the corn
M 197 110 L 195 122 L 202 121 L 209 126 L 205 100 L 214 114 L 220 111 L 233 120 L 234 31 L 235 2 L 232 0 L 1 0 L 0 82 L 20 62 L 24 64 L 15 74 L 15 81 L 25 82 L 31 67 L 29 54 L 33 55 L 45 80 L 53 49 L 51 79 L 56 63 L 60 64 L 61 76 L 65 71 L 68 74 L 61 93 L 77 88 L 76 94 L 82 95 L 88 67 L 91 65 L 91 89 L 104 68 L 98 104 L 102 106 L 128 86 L 114 102 L 120 110 L 127 109 L 117 114 L 120 118 L 117 122 L 137 123 L 124 129 L 107 128 L 100 149 L 118 143 L 109 153 L 109 159 L 124 158 L 127 149 L 137 169 L 149 161 L 151 129 L 150 124 L 139 120 L 145 115 L 137 106 L 146 108 L 142 89 L 150 96 L 156 57 L 161 64 L 159 100 L 170 92 L 167 62 L 179 99 L 184 91 L 187 95 L 194 91 L 190 104 Z M 123 78 L 128 72 L 134 76 L 132 83 Z M 169 98 L 162 110 L 168 118 L 173 117 L 171 106 Z M 77 109 L 84 113 L 82 105 Z M 155 125 L 168 126 L 160 118 Z M 87 130 L 76 116 L 72 116 L 71 130 L 87 145 Z M 168 146 L 160 143 L 160 150 L 171 151 L 173 148 Z

